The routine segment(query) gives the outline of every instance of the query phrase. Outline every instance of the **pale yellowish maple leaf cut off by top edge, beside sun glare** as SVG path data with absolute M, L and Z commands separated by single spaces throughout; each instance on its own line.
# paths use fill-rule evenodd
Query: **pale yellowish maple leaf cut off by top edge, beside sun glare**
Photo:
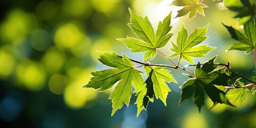
M 203 8 L 208 7 L 207 5 L 199 2 L 199 0 L 177 0 L 173 1 L 171 5 L 175 6 L 185 6 L 183 9 L 178 11 L 177 17 L 182 17 L 189 13 L 189 19 L 192 19 L 196 16 L 197 12 L 205 17 Z

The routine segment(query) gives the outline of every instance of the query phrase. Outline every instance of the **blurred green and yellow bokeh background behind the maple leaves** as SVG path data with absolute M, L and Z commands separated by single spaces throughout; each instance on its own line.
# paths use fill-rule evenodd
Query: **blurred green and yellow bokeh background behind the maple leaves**
M 249 92 L 243 105 L 217 105 L 208 110 L 209 98 L 198 113 L 193 101 L 179 106 L 179 86 L 188 77 L 172 70 L 178 84 L 171 83 L 167 107 L 160 100 L 149 103 L 147 111 L 136 117 L 134 94 L 127 108 L 111 117 L 111 89 L 84 89 L 93 71 L 107 69 L 97 58 L 97 51 L 125 53 L 142 61 L 143 53 L 130 53 L 116 38 L 135 37 L 127 26 L 130 7 L 135 13 L 148 15 L 153 27 L 172 10 L 175 17 L 180 7 L 172 0 L 0 0 L 0 127 L 256 127 L 255 97 Z M 206 17 L 188 15 L 174 18 L 171 30 L 176 42 L 178 30 L 185 23 L 191 33 L 210 23 L 204 44 L 216 46 L 201 63 L 218 54 L 216 62 L 230 61 L 233 70 L 248 78 L 254 75 L 253 55 L 227 51 L 232 43 L 222 26 L 236 26 L 234 12 L 225 10 L 221 1 L 205 1 Z M 170 43 L 163 49 L 172 54 Z M 174 61 L 178 61 L 177 59 Z M 170 64 L 157 54 L 151 63 Z M 171 65 L 171 64 L 170 64 Z M 187 65 L 182 62 L 182 65 Z M 189 69 L 193 71 L 193 68 Z

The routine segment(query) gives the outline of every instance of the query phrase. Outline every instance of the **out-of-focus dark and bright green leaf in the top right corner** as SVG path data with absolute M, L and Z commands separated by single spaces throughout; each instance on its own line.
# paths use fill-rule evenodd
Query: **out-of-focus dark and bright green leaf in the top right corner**
M 254 18 L 256 11 L 256 5 L 254 2 L 251 0 L 223 0 L 224 5 L 229 10 L 237 12 L 235 18 L 240 18 L 240 25 L 244 25 Z

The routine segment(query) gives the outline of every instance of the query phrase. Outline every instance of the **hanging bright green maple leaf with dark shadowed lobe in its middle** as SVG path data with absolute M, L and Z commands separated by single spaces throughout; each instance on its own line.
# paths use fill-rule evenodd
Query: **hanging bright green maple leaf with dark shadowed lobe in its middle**
M 147 73 L 147 80 L 138 90 L 134 92 L 137 93 L 138 98 L 135 103 L 138 106 L 137 116 L 140 114 L 140 111 L 147 108 L 148 102 L 154 101 L 154 95 L 158 99 L 161 99 L 166 106 L 166 98 L 170 88 L 165 82 L 174 82 L 175 79 L 170 73 L 169 70 L 163 69 L 164 67 L 155 66 L 155 67 L 145 67 Z M 154 90 L 154 92 L 153 92 Z

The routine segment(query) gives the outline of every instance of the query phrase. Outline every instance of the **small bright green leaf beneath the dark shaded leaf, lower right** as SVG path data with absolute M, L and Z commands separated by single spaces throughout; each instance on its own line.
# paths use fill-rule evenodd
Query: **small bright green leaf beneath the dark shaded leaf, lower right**
M 230 102 L 234 102 L 236 100 L 239 100 L 240 105 L 242 105 L 243 101 L 246 98 L 246 93 L 249 91 L 246 87 L 239 87 L 236 89 L 231 89 L 227 93 L 227 97 L 230 100 Z

